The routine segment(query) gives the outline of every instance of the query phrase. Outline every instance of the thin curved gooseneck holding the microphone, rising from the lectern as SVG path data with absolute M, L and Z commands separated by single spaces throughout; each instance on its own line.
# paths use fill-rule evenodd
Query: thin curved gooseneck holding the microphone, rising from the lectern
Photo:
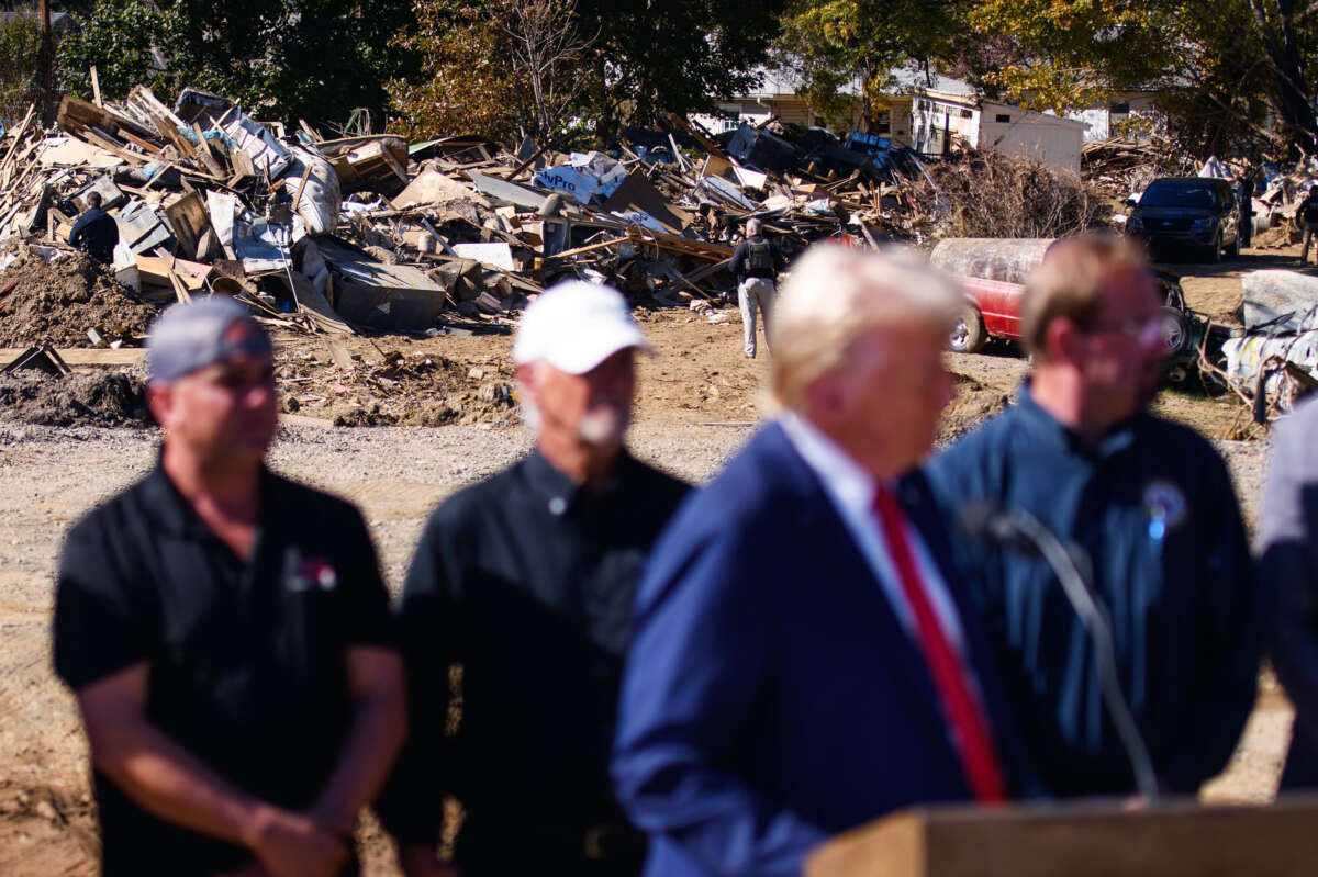
M 1130 703 L 1122 691 L 1122 683 L 1116 674 L 1116 649 L 1112 647 L 1112 625 L 1108 623 L 1107 612 L 1094 599 L 1086 575 L 1081 573 L 1079 564 L 1075 562 L 1073 550 L 1062 545 L 1057 535 L 1043 521 L 1027 511 L 1014 508 L 1006 512 L 1012 528 L 1028 539 L 1052 566 L 1057 581 L 1062 586 L 1062 593 L 1070 602 L 1075 615 L 1089 632 L 1098 654 L 1098 669 L 1103 685 L 1103 701 L 1107 711 L 1112 716 L 1112 724 L 1131 760 L 1131 769 L 1135 772 L 1135 786 L 1139 793 L 1148 798 L 1149 803 L 1159 799 L 1157 777 L 1153 772 L 1153 762 L 1149 758 L 1148 747 L 1140 736 L 1139 726 L 1131 714 Z M 1075 548 L 1074 552 L 1079 552 Z M 1089 557 L 1081 554 L 1086 561 Z M 1086 568 L 1089 564 L 1085 564 Z

